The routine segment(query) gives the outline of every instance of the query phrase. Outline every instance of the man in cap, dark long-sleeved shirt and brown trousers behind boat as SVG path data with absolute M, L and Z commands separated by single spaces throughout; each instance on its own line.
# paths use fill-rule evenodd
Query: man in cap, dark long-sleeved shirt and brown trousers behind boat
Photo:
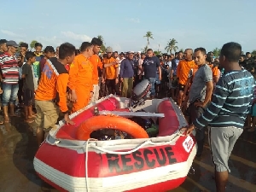
M 122 92 L 121 96 L 124 97 L 131 97 L 131 89 L 133 86 L 133 66 L 134 66 L 134 61 L 133 61 L 133 51 L 128 52 L 128 57 L 121 62 L 121 67 L 120 67 L 120 81 L 122 83 Z

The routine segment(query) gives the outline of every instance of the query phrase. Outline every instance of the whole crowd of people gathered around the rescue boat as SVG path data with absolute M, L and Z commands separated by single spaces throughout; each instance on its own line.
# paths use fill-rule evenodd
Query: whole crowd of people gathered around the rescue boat
M 188 133 L 196 130 L 197 157 L 202 154 L 205 131 L 210 127 L 217 189 L 224 191 L 230 171 L 228 159 L 246 119 L 249 127 L 253 120 L 249 131 L 255 130 L 256 108 L 251 107 L 255 102 L 252 74 L 256 63 L 251 54 L 241 55 L 241 45 L 236 43 L 224 44 L 216 58 L 204 48 L 154 55 L 153 49 L 118 53 L 107 47 L 99 55 L 101 47 L 102 40 L 92 38 L 79 49 L 65 43 L 56 49 L 46 46 L 42 51 L 43 45 L 37 43 L 35 51 L 31 51 L 26 43 L 1 39 L 0 123 L 8 123 L 9 116 L 18 115 L 18 98 L 25 121 L 35 121 L 40 145 L 49 130 L 55 129 L 60 112 L 65 122 L 73 125 L 70 113 L 109 94 L 130 98 L 133 87 L 148 79 L 148 99 L 172 97 L 189 122 L 184 129 Z

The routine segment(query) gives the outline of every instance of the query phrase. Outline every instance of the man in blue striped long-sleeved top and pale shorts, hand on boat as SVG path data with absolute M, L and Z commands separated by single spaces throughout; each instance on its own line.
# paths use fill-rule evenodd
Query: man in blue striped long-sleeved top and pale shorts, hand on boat
M 224 74 L 218 80 L 212 96 L 212 102 L 201 116 L 182 130 L 189 135 L 193 130 L 209 128 L 209 144 L 215 165 L 215 182 L 218 192 L 224 192 L 230 168 L 228 160 L 253 101 L 253 75 L 239 66 L 241 45 L 230 42 L 224 44 L 219 64 Z M 198 72 L 197 72 L 198 73 Z M 198 103 L 202 106 L 203 103 Z

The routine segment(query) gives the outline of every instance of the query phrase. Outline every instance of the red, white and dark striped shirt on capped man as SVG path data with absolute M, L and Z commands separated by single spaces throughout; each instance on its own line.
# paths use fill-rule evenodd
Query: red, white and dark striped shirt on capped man
M 3 83 L 5 84 L 17 84 L 19 76 L 19 66 L 15 55 L 4 53 L 0 55 L 0 67 L 3 73 Z

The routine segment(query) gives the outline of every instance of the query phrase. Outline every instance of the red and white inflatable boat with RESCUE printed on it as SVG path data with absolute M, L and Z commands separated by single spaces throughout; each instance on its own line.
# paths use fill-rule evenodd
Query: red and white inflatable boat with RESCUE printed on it
M 179 131 L 187 122 L 172 99 L 146 100 L 149 88 L 143 80 L 131 99 L 107 96 L 71 114 L 75 125 L 59 122 L 35 155 L 38 176 L 60 191 L 177 188 L 195 158 L 195 133 Z M 150 132 L 137 118 L 158 128 Z

